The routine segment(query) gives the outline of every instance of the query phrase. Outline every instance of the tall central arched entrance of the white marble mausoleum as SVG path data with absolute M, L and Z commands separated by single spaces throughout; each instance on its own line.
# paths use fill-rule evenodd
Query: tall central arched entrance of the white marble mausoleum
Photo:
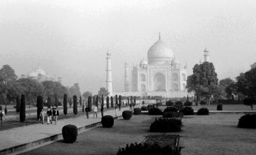
M 165 91 L 165 77 L 162 73 L 156 73 L 153 77 L 154 91 Z

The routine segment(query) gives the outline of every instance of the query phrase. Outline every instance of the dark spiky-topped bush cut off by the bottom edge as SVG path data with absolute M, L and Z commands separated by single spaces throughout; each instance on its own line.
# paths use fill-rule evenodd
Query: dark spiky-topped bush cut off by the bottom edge
M 125 148 L 119 148 L 117 155 L 127 155 L 127 154 L 140 154 L 140 155 L 150 155 L 150 154 L 173 154 L 180 155 L 180 149 L 172 147 L 172 145 L 160 146 L 159 144 L 127 144 Z

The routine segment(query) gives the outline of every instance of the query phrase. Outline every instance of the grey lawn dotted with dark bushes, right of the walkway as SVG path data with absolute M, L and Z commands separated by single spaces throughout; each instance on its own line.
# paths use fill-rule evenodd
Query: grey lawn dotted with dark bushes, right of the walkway
M 189 115 L 182 119 L 182 154 L 255 154 L 256 129 L 237 128 L 243 114 Z M 54 142 L 24 154 L 116 154 L 118 147 L 142 142 L 159 116 L 132 115 L 131 120 L 116 121 L 113 128 L 91 129 L 81 133 L 74 144 Z

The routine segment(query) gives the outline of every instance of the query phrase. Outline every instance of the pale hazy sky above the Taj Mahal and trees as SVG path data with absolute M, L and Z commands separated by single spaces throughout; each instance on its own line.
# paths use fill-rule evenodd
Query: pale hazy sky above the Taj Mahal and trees
M 0 0 L 0 65 L 20 77 L 39 63 L 64 85 L 97 92 L 109 49 L 113 89 L 123 91 L 124 61 L 140 63 L 159 32 L 189 74 L 207 47 L 218 78 L 234 78 L 256 61 L 256 1 Z

